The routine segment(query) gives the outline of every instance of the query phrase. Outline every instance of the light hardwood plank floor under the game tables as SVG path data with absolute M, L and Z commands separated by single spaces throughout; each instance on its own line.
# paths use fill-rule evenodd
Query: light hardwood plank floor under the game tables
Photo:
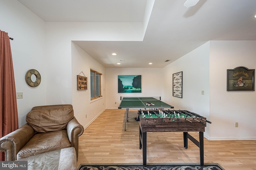
M 106 109 L 79 137 L 80 164 L 142 164 L 139 149 L 139 125 L 134 120 L 137 109 Z M 209 124 L 207 124 L 208 126 Z M 198 133 L 190 133 L 198 139 Z M 183 147 L 182 132 L 148 132 L 147 164 L 198 163 L 199 148 L 188 140 Z M 204 139 L 204 163 L 218 163 L 225 170 L 256 170 L 256 141 L 209 141 Z

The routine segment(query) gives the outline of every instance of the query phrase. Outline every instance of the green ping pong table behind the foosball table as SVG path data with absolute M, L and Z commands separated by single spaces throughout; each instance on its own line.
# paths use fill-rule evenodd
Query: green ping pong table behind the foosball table
M 129 109 L 163 109 L 174 108 L 173 106 L 166 104 L 154 97 L 121 97 L 121 102 L 118 109 L 126 109 L 126 120 L 124 123 L 124 131 L 126 131 L 126 122 L 128 121 Z

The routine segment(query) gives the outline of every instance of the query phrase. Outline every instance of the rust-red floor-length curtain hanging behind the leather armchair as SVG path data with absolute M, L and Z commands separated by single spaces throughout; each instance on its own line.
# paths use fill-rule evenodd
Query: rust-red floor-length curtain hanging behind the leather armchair
M 18 129 L 18 109 L 8 33 L 0 30 L 0 138 Z M 0 154 L 0 160 L 4 160 Z

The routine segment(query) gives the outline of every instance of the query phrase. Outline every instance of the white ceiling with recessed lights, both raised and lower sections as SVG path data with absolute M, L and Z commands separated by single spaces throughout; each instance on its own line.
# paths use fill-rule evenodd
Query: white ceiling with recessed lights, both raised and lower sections
M 46 22 L 143 22 L 147 3 L 147 0 L 18 1 Z M 75 43 L 106 67 L 162 68 L 210 40 L 256 40 L 256 0 L 200 0 L 190 8 L 184 7 L 184 2 L 155 0 L 143 41 Z M 113 57 L 110 51 L 118 55 Z M 111 59 L 106 62 L 106 57 Z M 153 64 L 149 65 L 150 62 Z

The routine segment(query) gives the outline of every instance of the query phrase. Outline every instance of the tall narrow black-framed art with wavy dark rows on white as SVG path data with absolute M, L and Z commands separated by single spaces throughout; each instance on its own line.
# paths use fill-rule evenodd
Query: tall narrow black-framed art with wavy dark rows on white
M 182 71 L 172 74 L 172 96 L 182 98 Z

